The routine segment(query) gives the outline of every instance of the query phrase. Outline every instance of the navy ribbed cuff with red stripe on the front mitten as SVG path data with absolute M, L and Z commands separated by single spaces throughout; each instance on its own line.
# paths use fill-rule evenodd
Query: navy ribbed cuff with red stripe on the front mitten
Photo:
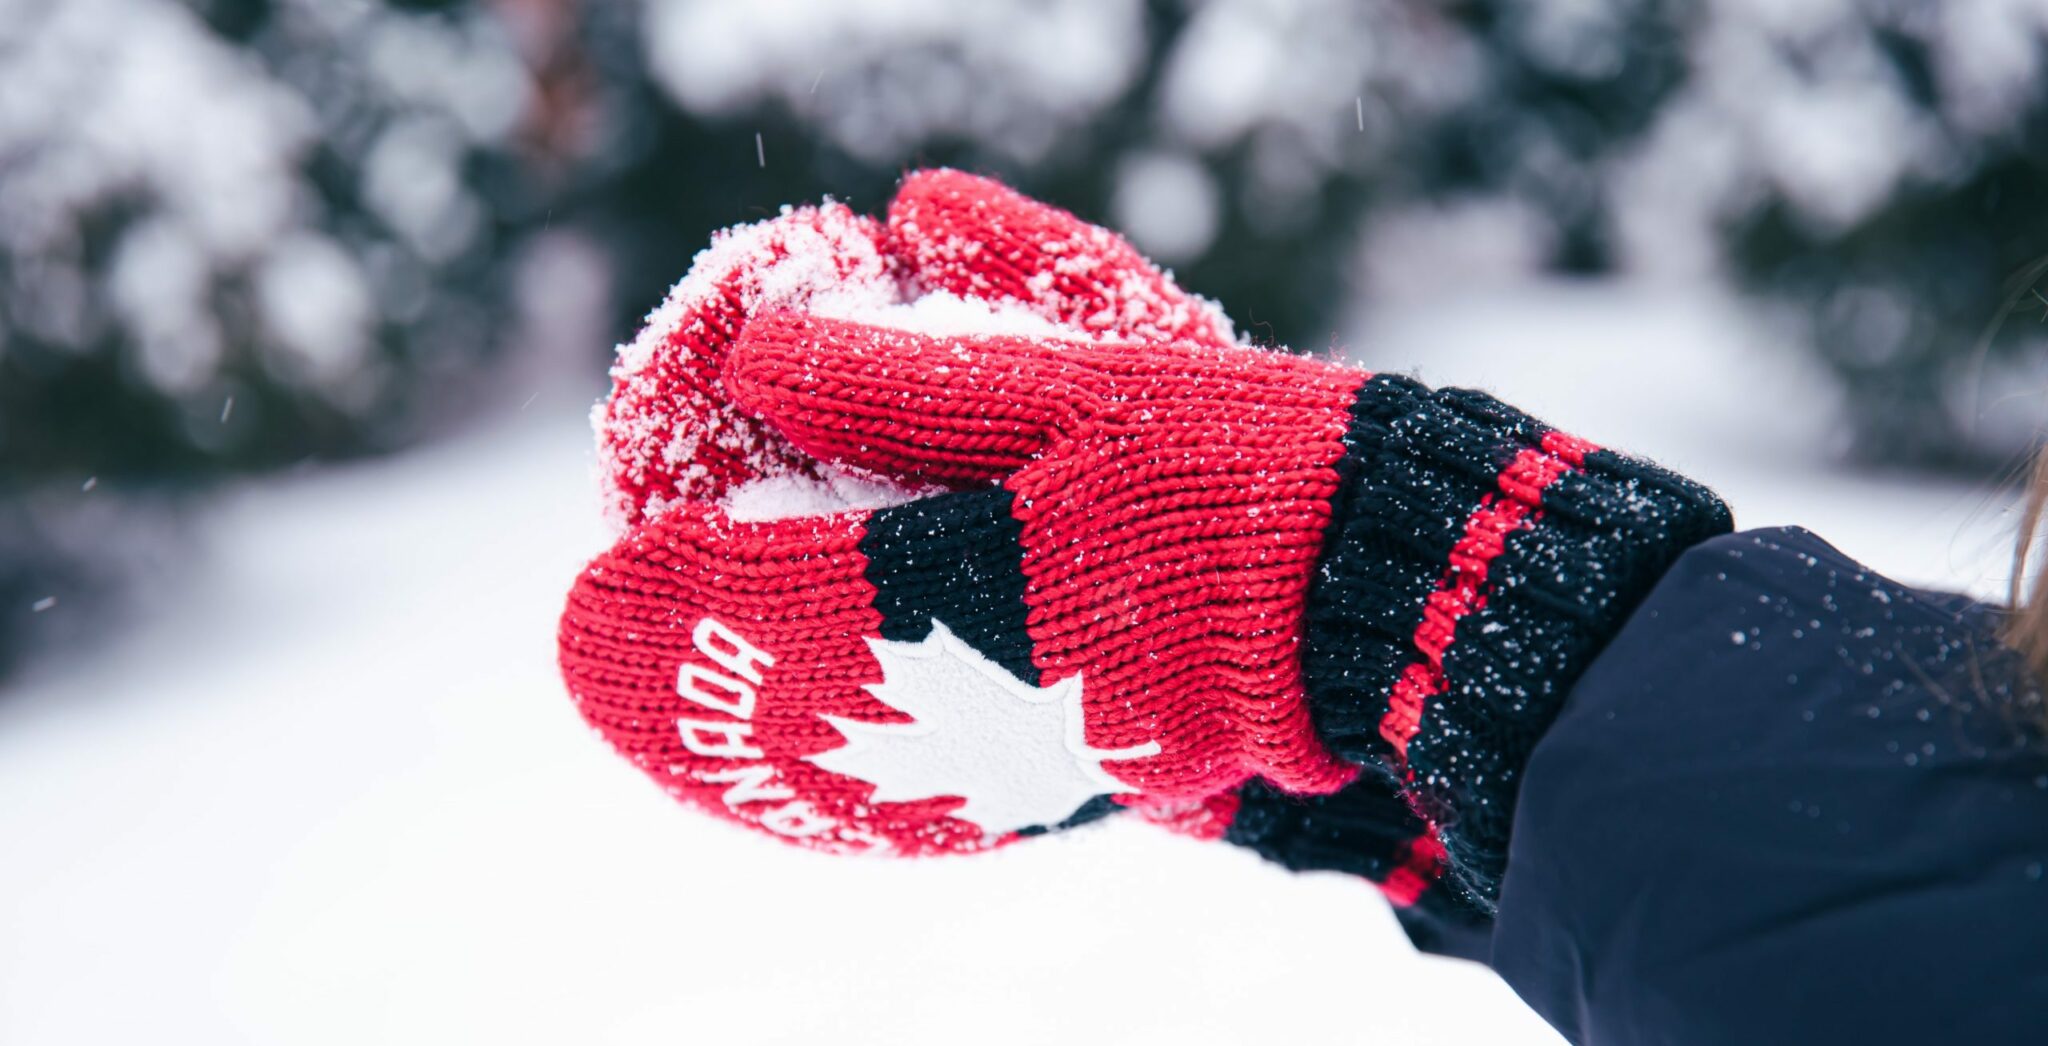
M 1337 471 L 1303 655 L 1317 735 L 1407 790 L 1491 911 L 1530 749 L 1671 561 L 1733 520 L 1679 475 L 1397 375 L 1360 387 Z

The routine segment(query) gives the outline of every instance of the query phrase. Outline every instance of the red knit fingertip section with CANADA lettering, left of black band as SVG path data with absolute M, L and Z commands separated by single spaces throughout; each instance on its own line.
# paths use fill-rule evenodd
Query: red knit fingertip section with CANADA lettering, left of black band
M 721 817 L 776 831 L 803 802 L 823 825 L 795 841 L 821 849 L 936 854 L 989 845 L 948 819 L 950 798 L 868 804 L 864 782 L 805 761 L 846 743 L 821 716 L 903 721 L 864 690 L 881 680 L 866 639 L 877 635 L 874 587 L 858 540 L 864 514 L 731 524 L 670 514 L 598 557 L 561 616 L 561 671 L 584 718 L 670 794 Z M 721 620 L 776 651 L 752 716 L 705 708 L 678 694 L 678 667 L 711 665 L 692 645 L 700 620 Z M 688 751 L 678 718 L 741 729 L 760 755 Z M 735 774 L 764 774 L 750 798 Z M 719 780 L 725 778 L 725 780 Z M 788 831 L 778 831 L 791 837 Z

